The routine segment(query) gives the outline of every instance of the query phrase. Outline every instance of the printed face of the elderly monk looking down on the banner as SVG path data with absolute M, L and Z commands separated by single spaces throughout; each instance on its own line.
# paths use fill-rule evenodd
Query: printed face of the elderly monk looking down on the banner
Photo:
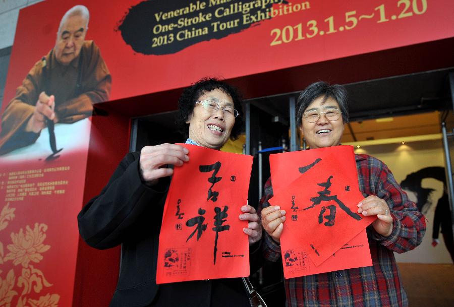
M 62 65 L 69 65 L 79 53 L 85 41 L 87 20 L 80 15 L 68 17 L 55 42 L 55 58 Z

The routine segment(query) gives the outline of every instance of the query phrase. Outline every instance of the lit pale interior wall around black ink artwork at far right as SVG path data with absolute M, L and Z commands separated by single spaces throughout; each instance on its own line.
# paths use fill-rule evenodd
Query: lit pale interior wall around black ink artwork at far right
M 387 150 L 384 151 L 383 147 L 386 147 Z M 444 167 L 441 140 L 393 144 L 390 146 L 363 146 L 355 150 L 355 152 L 366 153 L 382 160 L 392 171 L 398 183 L 402 182 L 408 174 L 422 168 L 429 166 Z M 430 195 L 432 204 L 425 213 L 427 224 L 426 234 L 421 245 L 415 250 L 404 254 L 395 254 L 396 261 L 411 263 L 452 263 L 441 233 L 438 237 L 440 243 L 436 247 L 432 247 L 431 245 L 434 211 L 437 201 L 443 193 L 443 183 L 433 178 L 426 178 L 422 180 L 422 187 L 435 190 Z M 408 195 L 411 200 L 416 201 L 414 193 L 409 192 Z

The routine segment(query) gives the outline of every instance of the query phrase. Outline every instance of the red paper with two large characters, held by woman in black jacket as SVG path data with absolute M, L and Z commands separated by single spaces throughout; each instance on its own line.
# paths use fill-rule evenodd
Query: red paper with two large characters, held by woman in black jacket
M 252 156 L 201 146 L 174 168 L 159 234 L 156 283 L 249 275 L 247 204 Z

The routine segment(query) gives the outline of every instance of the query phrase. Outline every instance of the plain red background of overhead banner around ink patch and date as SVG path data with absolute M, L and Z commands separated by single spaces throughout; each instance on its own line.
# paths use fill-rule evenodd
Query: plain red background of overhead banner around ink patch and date
M 415 2 L 421 10 L 424 1 L 409 3 Z M 454 5 L 449 0 L 427 0 L 424 14 L 412 13 L 396 20 L 390 16 L 399 16 L 405 9 L 404 4 L 398 7 L 396 0 L 311 1 L 310 9 L 261 21 L 222 39 L 204 41 L 174 54 L 144 55 L 134 52 L 116 31 L 128 9 L 139 2 L 49 0 L 21 10 L 4 101 L 13 97 L 32 65 L 53 47 L 61 17 L 76 4 L 84 4 L 90 10 L 87 39 L 93 39 L 100 47 L 112 74 L 111 100 L 181 88 L 207 75 L 239 78 L 454 36 L 450 14 Z M 385 7 L 387 22 L 377 23 L 378 10 L 374 8 L 380 5 Z M 406 12 L 412 10 L 410 6 Z M 356 17 L 372 13 L 375 17 L 360 20 L 351 30 L 340 31 L 349 11 L 356 11 Z M 337 32 L 270 46 L 273 29 L 301 23 L 303 33 L 311 33 L 307 23 L 315 20 L 319 32 L 327 32 L 325 20 L 330 16 Z

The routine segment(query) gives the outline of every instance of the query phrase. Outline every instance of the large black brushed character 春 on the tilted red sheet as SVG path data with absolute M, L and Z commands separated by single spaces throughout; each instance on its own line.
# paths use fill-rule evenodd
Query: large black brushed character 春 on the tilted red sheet
M 331 191 L 329 191 L 329 188 L 332 185 L 332 183 L 331 183 L 331 178 L 332 177 L 333 176 L 329 176 L 329 178 L 328 178 L 328 180 L 326 180 L 326 182 L 317 183 L 317 185 L 320 186 L 320 187 L 323 187 L 324 190 L 317 192 L 318 196 L 312 197 L 310 199 L 312 201 L 312 205 L 310 205 L 309 207 L 304 208 L 302 210 L 307 210 L 307 209 L 313 208 L 316 205 L 319 205 L 322 201 L 324 201 L 324 202 L 334 201 L 349 216 L 353 217 L 354 219 L 356 219 L 358 221 L 361 220 L 362 219 L 361 215 L 352 212 L 349 207 L 344 205 L 344 203 L 337 198 L 337 195 L 331 195 L 331 196 L 329 195 L 329 194 L 331 194 Z M 333 209 L 333 207 L 334 207 L 334 209 Z M 329 215 L 325 215 L 324 216 L 328 220 L 327 222 L 324 223 L 324 225 L 325 226 L 332 226 L 332 225 L 334 225 L 334 217 L 335 217 L 335 214 L 336 214 L 334 205 L 330 205 L 330 206 L 327 206 L 327 207 L 322 207 L 322 209 L 320 211 L 320 214 L 318 216 L 319 224 L 323 221 L 323 213 L 325 213 L 326 209 L 329 209 L 330 213 L 329 213 Z

